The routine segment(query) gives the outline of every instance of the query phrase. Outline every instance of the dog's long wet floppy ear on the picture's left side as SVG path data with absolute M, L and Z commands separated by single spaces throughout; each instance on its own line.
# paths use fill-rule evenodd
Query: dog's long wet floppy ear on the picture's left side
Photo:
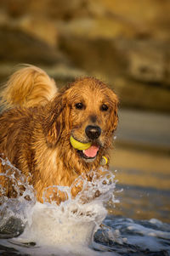
M 65 127 L 65 100 L 62 94 L 57 95 L 52 102 L 47 105 L 47 116 L 42 123 L 43 134 L 48 146 L 54 147 L 62 130 Z

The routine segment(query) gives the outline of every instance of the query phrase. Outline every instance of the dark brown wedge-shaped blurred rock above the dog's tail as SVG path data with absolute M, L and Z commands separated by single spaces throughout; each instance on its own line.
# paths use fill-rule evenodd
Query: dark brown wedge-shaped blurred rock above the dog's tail
M 17 28 L 0 28 L 0 60 L 14 63 L 46 64 L 65 61 L 64 54 Z

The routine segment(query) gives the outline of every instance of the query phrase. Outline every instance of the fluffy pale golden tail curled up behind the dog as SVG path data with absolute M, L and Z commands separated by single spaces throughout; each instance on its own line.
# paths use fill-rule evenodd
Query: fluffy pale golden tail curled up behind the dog
M 26 65 L 9 78 L 0 94 L 0 104 L 5 108 L 45 105 L 56 92 L 54 80 L 45 71 L 34 65 Z

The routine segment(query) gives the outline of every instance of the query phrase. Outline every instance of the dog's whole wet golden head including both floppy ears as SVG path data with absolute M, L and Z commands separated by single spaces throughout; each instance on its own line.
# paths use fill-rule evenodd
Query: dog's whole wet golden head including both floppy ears
M 94 162 L 110 147 L 117 125 L 116 94 L 105 83 L 91 77 L 78 79 L 62 89 L 52 101 L 45 130 L 48 144 L 72 147 L 70 137 L 89 144 L 72 151 L 84 162 Z

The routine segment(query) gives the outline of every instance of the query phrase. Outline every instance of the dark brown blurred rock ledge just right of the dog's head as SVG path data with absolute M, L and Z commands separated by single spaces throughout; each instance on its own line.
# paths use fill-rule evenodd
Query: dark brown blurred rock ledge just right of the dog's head
M 123 77 L 116 77 L 112 84 L 119 95 L 122 107 L 170 112 L 168 88 L 160 88 Z

